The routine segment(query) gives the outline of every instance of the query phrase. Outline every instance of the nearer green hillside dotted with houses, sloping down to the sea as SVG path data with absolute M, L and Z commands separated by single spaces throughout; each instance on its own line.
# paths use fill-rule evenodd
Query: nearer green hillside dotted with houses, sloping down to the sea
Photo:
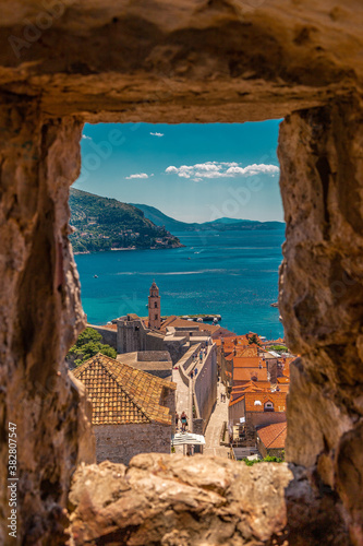
M 178 237 L 145 218 L 143 211 L 117 199 L 71 188 L 70 209 L 74 228 L 70 240 L 76 253 L 182 246 Z

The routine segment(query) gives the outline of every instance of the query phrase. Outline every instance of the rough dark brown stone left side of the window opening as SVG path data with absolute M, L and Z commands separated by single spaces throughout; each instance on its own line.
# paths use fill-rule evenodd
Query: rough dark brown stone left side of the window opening
M 9 97 L 0 117 L 0 543 L 8 535 L 10 422 L 17 435 L 19 539 L 46 544 L 51 536 L 58 544 L 81 428 L 87 431 L 63 364 L 84 327 L 68 241 L 81 126 L 45 119 L 25 97 Z

